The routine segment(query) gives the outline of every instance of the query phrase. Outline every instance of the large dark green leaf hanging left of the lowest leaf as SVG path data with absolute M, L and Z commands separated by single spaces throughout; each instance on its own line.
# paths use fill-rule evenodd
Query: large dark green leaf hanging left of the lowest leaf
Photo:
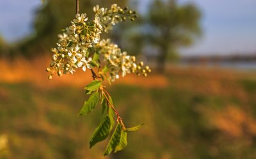
M 97 144 L 97 142 L 100 142 L 108 137 L 108 134 L 110 132 L 110 125 L 111 121 L 109 116 L 106 116 L 102 123 L 96 128 L 95 132 L 93 133 L 93 137 L 90 140 L 90 148 Z

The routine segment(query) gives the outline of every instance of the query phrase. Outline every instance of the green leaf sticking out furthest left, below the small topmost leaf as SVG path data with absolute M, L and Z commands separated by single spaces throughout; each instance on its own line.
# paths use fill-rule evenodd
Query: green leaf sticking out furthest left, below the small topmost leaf
M 79 112 L 79 116 L 84 116 L 89 112 L 92 112 L 92 110 L 97 105 L 98 101 L 99 101 L 99 93 L 96 91 L 90 96 L 90 98 L 86 102 L 84 102 L 84 105 Z

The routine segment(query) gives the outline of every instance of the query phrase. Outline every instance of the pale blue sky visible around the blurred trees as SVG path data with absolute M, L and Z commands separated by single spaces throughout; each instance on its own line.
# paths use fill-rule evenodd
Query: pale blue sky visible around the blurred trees
M 149 1 L 140 0 L 141 6 L 147 7 Z M 256 52 L 255 0 L 179 0 L 180 4 L 188 2 L 202 10 L 204 36 L 193 47 L 182 49 L 182 54 Z M 33 11 L 38 6 L 40 0 L 1 1 L 0 34 L 13 42 L 31 33 Z

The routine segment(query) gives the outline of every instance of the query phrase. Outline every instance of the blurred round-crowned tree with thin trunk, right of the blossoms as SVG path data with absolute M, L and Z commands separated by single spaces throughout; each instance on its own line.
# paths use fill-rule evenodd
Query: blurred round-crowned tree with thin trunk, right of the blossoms
M 157 66 L 163 71 L 168 56 L 177 57 L 179 47 L 188 47 L 200 36 L 201 13 L 194 4 L 155 0 L 147 15 L 147 39 L 159 49 Z

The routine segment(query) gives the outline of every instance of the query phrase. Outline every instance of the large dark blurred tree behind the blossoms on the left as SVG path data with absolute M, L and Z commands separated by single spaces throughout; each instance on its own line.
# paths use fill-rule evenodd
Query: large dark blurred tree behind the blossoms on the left
M 93 6 L 99 4 L 102 7 L 109 7 L 113 3 L 124 7 L 127 0 L 80 0 L 80 12 L 87 13 L 92 20 Z M 61 29 L 65 29 L 76 15 L 76 1 L 48 0 L 44 2 L 42 8 L 35 11 L 35 14 L 34 33 L 20 42 L 20 50 L 25 56 L 43 54 L 56 45 L 57 34 L 60 34 Z

